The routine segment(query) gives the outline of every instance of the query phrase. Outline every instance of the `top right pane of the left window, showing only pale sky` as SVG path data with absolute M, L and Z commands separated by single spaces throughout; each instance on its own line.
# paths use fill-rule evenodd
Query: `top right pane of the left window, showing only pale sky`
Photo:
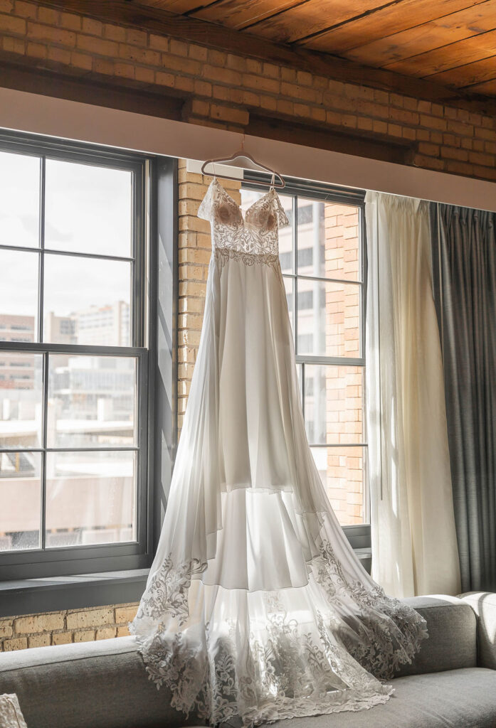
M 132 255 L 133 175 L 47 159 L 45 248 Z

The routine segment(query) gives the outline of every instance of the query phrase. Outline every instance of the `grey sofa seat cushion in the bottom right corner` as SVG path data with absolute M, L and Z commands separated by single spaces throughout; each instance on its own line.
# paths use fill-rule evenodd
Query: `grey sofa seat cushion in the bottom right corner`
M 277 721 L 270 728 L 495 728 L 496 670 L 464 668 L 391 681 L 384 705 Z

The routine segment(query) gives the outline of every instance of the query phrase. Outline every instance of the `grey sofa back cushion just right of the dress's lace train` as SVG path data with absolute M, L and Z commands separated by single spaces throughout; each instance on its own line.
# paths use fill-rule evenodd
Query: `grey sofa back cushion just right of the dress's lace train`
M 429 637 L 411 664 L 401 665 L 396 676 L 477 665 L 477 617 L 469 604 L 449 596 L 417 596 L 404 601 L 422 614 Z

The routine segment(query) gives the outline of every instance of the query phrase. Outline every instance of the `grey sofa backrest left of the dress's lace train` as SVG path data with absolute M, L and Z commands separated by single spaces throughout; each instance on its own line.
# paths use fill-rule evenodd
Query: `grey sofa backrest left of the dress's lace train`
M 28 728 L 176 728 L 198 724 L 148 679 L 133 637 L 0 655 L 0 693 L 15 692 Z

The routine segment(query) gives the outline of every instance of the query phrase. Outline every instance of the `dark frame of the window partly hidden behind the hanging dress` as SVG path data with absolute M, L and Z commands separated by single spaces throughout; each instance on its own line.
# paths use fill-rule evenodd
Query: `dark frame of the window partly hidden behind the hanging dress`
M 254 190 L 259 192 L 266 192 L 267 187 L 261 186 L 259 182 L 267 181 L 267 175 L 263 173 L 257 173 L 255 171 L 247 171 L 244 173 L 243 180 L 241 181 L 241 189 Z M 283 273 L 283 279 L 292 281 L 293 291 L 293 310 L 290 312 L 292 316 L 295 351 L 296 351 L 296 365 L 302 366 L 302 379 L 301 379 L 301 395 L 302 395 L 302 408 L 304 414 L 304 368 L 305 365 L 350 365 L 360 366 L 365 370 L 366 368 L 366 357 L 365 357 L 365 344 L 366 344 L 366 301 L 367 301 L 367 245 L 366 245 L 366 221 L 365 221 L 365 195 L 366 191 L 361 189 L 353 189 L 347 187 L 334 186 L 326 183 L 318 183 L 298 178 L 286 178 L 286 186 L 280 190 L 280 194 L 291 195 L 293 197 L 292 202 L 292 215 L 293 215 L 293 250 L 292 250 L 292 272 Z M 342 205 L 353 205 L 359 210 L 358 215 L 358 240 L 360 242 L 360 272 L 361 277 L 359 281 L 333 279 L 327 277 L 315 277 L 315 276 L 304 276 L 298 273 L 298 225 L 297 225 L 297 208 L 298 198 L 300 199 L 311 199 L 315 202 L 334 202 Z M 358 358 L 351 357 L 326 357 L 326 356 L 314 356 L 314 355 L 303 355 L 298 353 L 297 349 L 297 337 L 298 337 L 298 301 L 297 301 L 297 282 L 299 279 L 303 280 L 317 280 L 323 282 L 337 282 L 345 283 L 346 285 L 358 285 L 361 287 L 361 332 L 360 332 L 360 347 L 361 356 Z M 363 380 L 363 403 L 366 403 L 366 392 L 365 392 L 365 379 Z M 318 445 L 310 444 L 310 447 L 363 447 L 368 449 L 368 438 L 366 432 L 366 418 L 363 419 L 363 442 L 361 443 L 339 443 L 336 445 L 329 445 L 328 443 L 321 443 Z M 364 499 L 363 499 L 363 523 L 356 523 L 350 526 L 342 526 L 343 531 L 347 535 L 354 549 L 357 551 L 359 557 L 363 557 L 365 566 L 369 566 L 370 561 L 370 490 L 369 490 L 369 479 L 367 477 L 367 471 L 363 480 Z

